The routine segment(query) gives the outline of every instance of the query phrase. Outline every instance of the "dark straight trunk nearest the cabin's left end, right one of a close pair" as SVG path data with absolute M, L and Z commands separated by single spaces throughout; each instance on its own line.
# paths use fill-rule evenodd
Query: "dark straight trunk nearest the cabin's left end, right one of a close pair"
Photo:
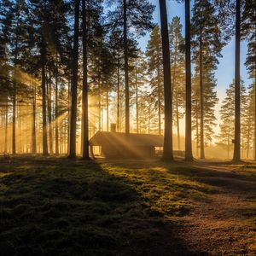
M 89 160 L 89 110 L 88 110 L 88 57 L 86 1 L 82 0 L 83 15 L 83 95 L 82 95 L 82 156 Z

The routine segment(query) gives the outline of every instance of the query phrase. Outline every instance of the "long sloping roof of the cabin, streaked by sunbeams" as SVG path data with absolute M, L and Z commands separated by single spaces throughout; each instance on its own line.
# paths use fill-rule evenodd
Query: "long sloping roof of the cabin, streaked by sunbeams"
M 164 137 L 161 135 L 130 133 L 126 135 L 123 132 L 98 131 L 91 137 L 90 145 L 120 145 L 136 147 L 163 147 Z

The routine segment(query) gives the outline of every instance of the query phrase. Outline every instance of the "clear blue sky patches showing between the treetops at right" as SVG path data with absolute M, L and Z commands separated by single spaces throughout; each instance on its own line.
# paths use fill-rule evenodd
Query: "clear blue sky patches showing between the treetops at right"
M 149 0 L 151 3 L 156 5 L 154 11 L 154 22 L 160 24 L 160 11 L 159 11 L 159 1 L 158 0 Z M 174 16 L 179 16 L 183 24 L 183 35 L 184 35 L 184 3 L 176 3 L 174 0 L 167 0 L 167 12 L 168 12 L 168 21 L 170 22 Z M 193 1 L 191 1 L 192 9 Z M 148 42 L 149 34 L 139 39 L 139 43 L 142 49 L 146 48 Z M 222 51 L 223 58 L 219 59 L 218 70 L 216 71 L 216 79 L 218 79 L 217 91 L 218 91 L 218 108 L 216 109 L 216 116 L 218 117 L 219 106 L 224 99 L 225 90 L 228 88 L 229 84 L 235 77 L 235 38 L 232 38 L 230 43 L 224 47 Z M 248 79 L 247 69 L 244 66 L 247 55 L 247 43 L 241 43 L 241 78 L 244 80 L 245 85 L 251 84 L 251 80 Z M 218 121 L 219 123 L 219 121 Z M 218 132 L 218 127 L 217 131 Z

